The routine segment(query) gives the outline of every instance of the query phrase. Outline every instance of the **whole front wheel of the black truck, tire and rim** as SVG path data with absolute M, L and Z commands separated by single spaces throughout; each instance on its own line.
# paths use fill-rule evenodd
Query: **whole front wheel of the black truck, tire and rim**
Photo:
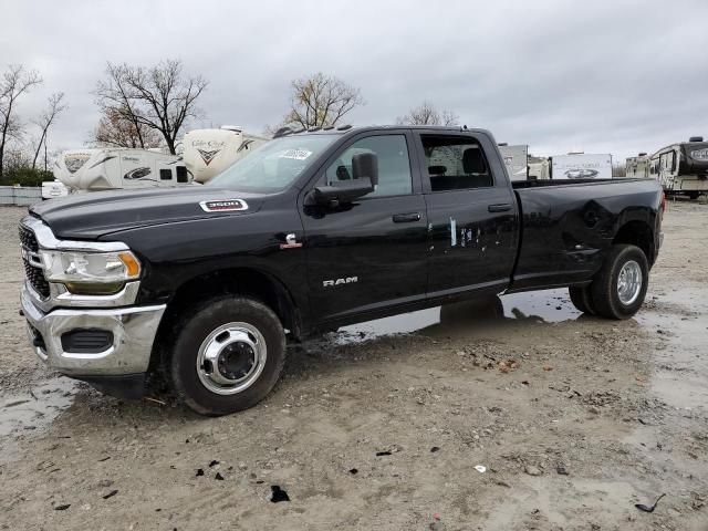
M 201 415 L 254 406 L 273 388 L 285 362 L 285 334 L 266 304 L 243 296 L 211 299 L 175 326 L 169 366 L 177 398 Z

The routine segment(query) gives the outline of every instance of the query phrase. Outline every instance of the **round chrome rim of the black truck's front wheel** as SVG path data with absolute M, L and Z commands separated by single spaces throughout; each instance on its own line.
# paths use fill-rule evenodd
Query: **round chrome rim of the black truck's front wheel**
M 227 323 L 211 332 L 199 346 L 197 375 L 218 395 L 249 388 L 266 366 L 266 340 L 248 323 Z

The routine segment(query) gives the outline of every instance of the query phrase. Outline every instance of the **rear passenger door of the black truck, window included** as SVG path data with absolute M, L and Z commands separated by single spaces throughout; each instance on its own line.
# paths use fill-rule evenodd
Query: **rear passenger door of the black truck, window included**
M 416 135 L 430 231 L 429 296 L 502 291 L 517 252 L 518 211 L 483 134 Z

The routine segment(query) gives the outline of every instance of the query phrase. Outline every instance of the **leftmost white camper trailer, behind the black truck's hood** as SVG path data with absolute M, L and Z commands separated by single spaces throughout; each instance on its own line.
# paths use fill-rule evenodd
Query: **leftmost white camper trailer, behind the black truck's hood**
M 71 191 L 190 185 L 181 157 L 132 148 L 73 149 L 56 159 L 54 176 Z

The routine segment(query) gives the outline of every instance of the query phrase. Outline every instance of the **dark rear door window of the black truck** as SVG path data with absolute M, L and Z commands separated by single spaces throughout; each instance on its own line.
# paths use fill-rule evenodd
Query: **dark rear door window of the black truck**
M 423 135 L 420 139 L 433 191 L 494 186 L 487 157 L 473 138 Z

